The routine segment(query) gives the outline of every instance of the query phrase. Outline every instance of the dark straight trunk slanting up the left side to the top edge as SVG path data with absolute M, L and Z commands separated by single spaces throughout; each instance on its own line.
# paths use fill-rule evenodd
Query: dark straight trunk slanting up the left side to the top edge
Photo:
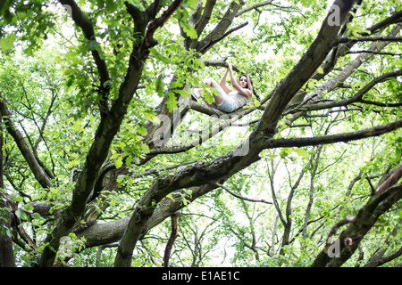
M 177 2 L 174 3 L 177 4 Z M 164 13 L 160 20 L 156 22 L 155 26 L 150 29 L 151 36 L 152 30 L 163 25 L 164 21 L 167 19 L 166 17 L 172 15 L 172 10 L 168 9 L 166 13 Z M 148 12 L 142 12 L 141 15 L 143 17 L 136 20 L 136 31 L 141 35 L 145 35 L 150 15 Z M 148 39 L 151 36 L 149 36 Z M 105 113 L 105 116 L 101 117 L 100 123 L 96 129 L 96 134 L 88 151 L 84 167 L 72 192 L 71 205 L 63 211 L 63 215 L 56 221 L 54 231 L 46 238 L 46 242 L 49 242 L 49 246 L 44 249 L 41 256 L 40 264 L 42 266 L 53 265 L 55 256 L 54 249 L 59 247 L 60 239 L 68 234 L 68 232 L 71 232 L 74 224 L 76 224 L 80 216 L 84 214 L 89 194 L 94 189 L 96 179 L 107 158 L 113 138 L 117 132 L 119 132 L 122 119 L 126 115 L 132 96 L 138 87 L 148 54 L 149 46 L 142 45 L 138 42 L 137 38 L 130 55 L 129 68 L 121 84 L 119 94 L 113 102 L 110 111 Z

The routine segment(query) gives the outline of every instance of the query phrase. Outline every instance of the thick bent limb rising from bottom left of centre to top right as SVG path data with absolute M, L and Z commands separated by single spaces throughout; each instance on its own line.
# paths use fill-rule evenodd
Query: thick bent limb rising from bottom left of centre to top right
M 353 1 L 336 1 L 340 8 L 340 19 L 344 21 L 351 9 Z M 155 205 L 172 191 L 182 188 L 199 186 L 205 183 L 216 183 L 227 179 L 239 170 L 248 167 L 259 159 L 259 152 L 264 149 L 264 140 L 272 138 L 275 126 L 281 118 L 281 113 L 297 91 L 306 84 L 336 42 L 339 27 L 330 26 L 328 17 L 322 23 L 322 28 L 296 67 L 289 72 L 280 85 L 275 89 L 271 102 L 268 103 L 259 125 L 250 135 L 249 150 L 243 156 L 231 151 L 222 158 L 196 166 L 183 167 L 175 175 L 164 175 L 154 181 L 150 188 L 138 201 L 138 207 L 130 218 L 129 226 L 121 238 L 121 245 L 115 259 L 115 266 L 130 266 L 132 252 L 136 246 L 143 227 L 153 215 Z

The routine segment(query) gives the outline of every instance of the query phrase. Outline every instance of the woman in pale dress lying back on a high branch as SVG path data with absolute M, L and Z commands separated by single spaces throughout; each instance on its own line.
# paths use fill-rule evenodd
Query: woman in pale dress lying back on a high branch
M 218 84 L 214 79 L 208 78 L 203 82 L 205 85 L 211 86 L 214 88 L 218 94 L 214 95 L 214 102 L 208 104 L 208 106 L 222 110 L 222 112 L 230 113 L 235 110 L 238 110 L 240 107 L 243 107 L 251 100 L 253 96 L 253 85 L 251 84 L 251 80 L 247 77 L 246 74 L 242 74 L 239 77 L 239 81 L 236 81 L 233 76 L 233 66 L 229 63 L 228 69 L 226 69 L 225 74 L 223 75 L 221 82 Z M 228 76 L 228 72 L 230 73 L 230 83 L 232 85 L 232 89 L 226 85 L 226 77 Z M 201 97 L 202 88 L 194 88 L 192 92 L 192 96 L 197 100 Z

